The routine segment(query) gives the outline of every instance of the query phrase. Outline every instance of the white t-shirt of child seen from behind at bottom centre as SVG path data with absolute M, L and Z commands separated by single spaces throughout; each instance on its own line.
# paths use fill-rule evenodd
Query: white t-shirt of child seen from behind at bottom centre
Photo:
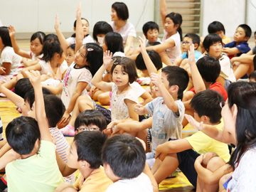
M 136 178 L 121 179 L 107 188 L 106 192 L 153 192 L 149 177 L 142 173 Z

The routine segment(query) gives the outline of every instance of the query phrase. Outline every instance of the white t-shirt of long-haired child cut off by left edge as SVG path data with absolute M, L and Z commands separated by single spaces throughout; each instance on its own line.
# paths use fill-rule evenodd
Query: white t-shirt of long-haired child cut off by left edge
M 18 66 L 21 65 L 21 56 L 14 52 L 14 48 L 6 46 L 1 51 L 0 63 L 1 65 L 2 63 L 11 63 L 11 72 L 9 75 L 13 76 L 18 70 Z

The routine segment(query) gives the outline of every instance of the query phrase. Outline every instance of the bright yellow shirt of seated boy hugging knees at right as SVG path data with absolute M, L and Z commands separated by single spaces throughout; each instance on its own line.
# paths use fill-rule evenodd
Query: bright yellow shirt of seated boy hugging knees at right
M 219 124 L 216 124 L 215 127 L 217 129 L 222 130 L 223 121 Z M 191 144 L 193 149 L 198 152 L 198 154 L 206 154 L 207 152 L 215 152 L 224 159 L 225 162 L 228 162 L 230 159 L 230 153 L 228 150 L 228 144 L 224 144 L 222 142 L 218 142 L 211 137 L 208 137 L 203 132 L 196 132 L 191 137 L 186 138 L 188 143 Z

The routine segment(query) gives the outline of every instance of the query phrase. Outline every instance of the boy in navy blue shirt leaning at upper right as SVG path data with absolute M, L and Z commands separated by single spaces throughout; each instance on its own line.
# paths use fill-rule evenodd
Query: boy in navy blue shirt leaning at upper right
M 250 26 L 246 24 L 241 24 L 235 31 L 234 41 L 223 46 L 223 53 L 226 53 L 230 58 L 234 56 L 240 56 L 242 53 L 247 53 L 250 51 L 250 47 L 247 43 L 252 30 Z

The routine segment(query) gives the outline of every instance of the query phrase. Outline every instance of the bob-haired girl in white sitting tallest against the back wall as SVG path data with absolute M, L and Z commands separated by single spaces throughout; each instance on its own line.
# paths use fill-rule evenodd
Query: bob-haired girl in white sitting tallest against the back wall
M 132 23 L 127 22 L 129 11 L 127 5 L 122 2 L 112 4 L 111 22 L 113 31 L 120 33 L 123 38 L 124 53 L 132 47 L 132 41 L 136 38 L 136 31 Z

